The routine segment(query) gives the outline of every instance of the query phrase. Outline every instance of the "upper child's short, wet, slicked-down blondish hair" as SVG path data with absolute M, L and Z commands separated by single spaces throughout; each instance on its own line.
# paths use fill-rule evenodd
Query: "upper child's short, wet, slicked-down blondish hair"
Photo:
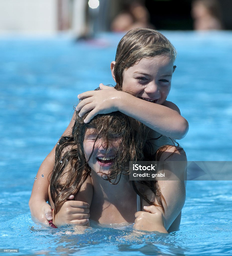
M 114 66 L 115 89 L 122 90 L 123 71 L 142 58 L 168 55 L 174 63 L 177 51 L 159 31 L 149 28 L 130 30 L 120 40 Z M 174 68 L 175 69 L 175 68 Z

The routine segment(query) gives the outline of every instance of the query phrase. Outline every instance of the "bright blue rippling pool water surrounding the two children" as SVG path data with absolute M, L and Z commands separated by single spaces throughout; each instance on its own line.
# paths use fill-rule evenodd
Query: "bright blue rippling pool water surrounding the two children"
M 189 121 L 179 141 L 188 160 L 232 161 L 232 33 L 164 34 L 179 52 L 168 99 Z M 77 94 L 113 84 L 109 65 L 121 36 L 78 43 L 1 38 L 0 249 L 20 249 L 13 255 L 232 255 L 231 181 L 188 182 L 180 231 L 169 235 L 127 227 L 68 236 L 31 221 L 37 170 L 68 125 Z

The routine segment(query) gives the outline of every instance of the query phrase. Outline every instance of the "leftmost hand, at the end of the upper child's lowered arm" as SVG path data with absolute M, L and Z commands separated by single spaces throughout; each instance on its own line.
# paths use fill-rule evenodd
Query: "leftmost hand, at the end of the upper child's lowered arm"
M 44 200 L 29 202 L 31 219 L 35 223 L 49 226 L 48 220 L 52 220 L 52 208 Z

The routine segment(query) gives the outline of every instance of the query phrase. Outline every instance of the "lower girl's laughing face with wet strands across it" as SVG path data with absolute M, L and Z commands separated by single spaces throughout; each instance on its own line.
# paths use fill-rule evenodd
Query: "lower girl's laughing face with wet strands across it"
M 92 172 L 108 174 L 121 143 L 118 135 L 112 135 L 109 146 L 104 143 L 98 131 L 88 128 L 83 142 L 85 159 Z M 101 176 L 101 173 L 99 173 Z

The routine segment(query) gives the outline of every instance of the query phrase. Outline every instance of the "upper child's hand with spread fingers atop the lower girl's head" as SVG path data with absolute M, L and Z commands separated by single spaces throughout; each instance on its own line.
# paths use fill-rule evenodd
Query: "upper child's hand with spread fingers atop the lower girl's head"
M 77 96 L 78 99 L 83 99 L 76 107 L 76 111 L 80 111 L 79 116 L 81 117 L 91 110 L 84 120 L 85 123 L 88 123 L 97 114 L 118 111 L 117 101 L 121 99 L 122 92 L 102 83 L 99 87 L 101 90 L 87 91 Z

